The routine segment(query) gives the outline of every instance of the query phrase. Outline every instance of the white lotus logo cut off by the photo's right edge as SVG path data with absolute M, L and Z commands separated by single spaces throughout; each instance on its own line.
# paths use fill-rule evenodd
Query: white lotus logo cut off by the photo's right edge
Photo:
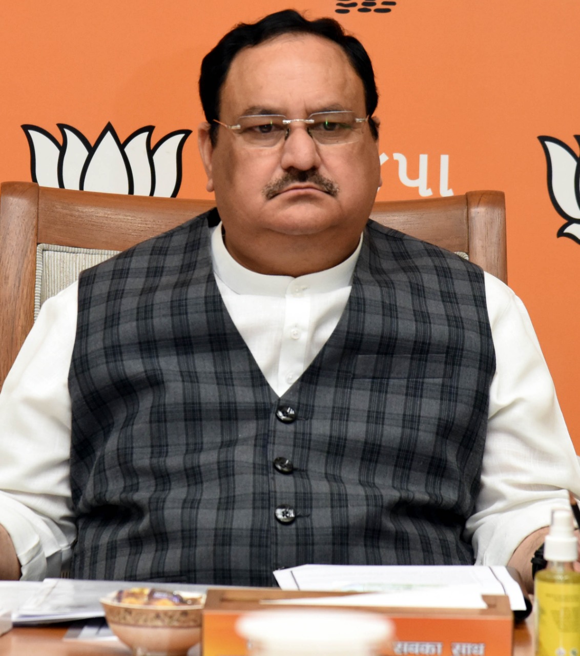
M 580 157 L 560 139 L 539 136 L 548 165 L 548 192 L 552 205 L 566 219 L 558 237 L 580 243 Z M 580 144 L 580 135 L 575 135 Z

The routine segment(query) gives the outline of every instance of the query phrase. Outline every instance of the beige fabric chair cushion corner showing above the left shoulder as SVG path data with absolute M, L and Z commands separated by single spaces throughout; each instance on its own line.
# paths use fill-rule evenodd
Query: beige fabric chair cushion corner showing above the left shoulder
M 36 283 L 34 319 L 51 296 L 78 279 L 81 271 L 116 255 L 119 251 L 75 248 L 56 244 L 39 244 L 36 249 Z

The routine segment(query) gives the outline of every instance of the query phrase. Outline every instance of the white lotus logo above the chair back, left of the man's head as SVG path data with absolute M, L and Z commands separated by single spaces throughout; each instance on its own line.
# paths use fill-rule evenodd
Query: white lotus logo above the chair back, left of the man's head
M 191 130 L 176 130 L 151 147 L 153 125 L 121 142 L 107 123 L 94 145 L 71 125 L 58 123 L 62 144 L 37 125 L 22 125 L 30 146 L 33 182 L 45 187 L 110 194 L 176 196 L 182 151 Z

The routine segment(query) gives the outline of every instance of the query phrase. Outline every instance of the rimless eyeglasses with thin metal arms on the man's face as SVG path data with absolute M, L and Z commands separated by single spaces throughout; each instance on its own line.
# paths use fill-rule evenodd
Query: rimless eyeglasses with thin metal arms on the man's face
M 362 127 L 369 117 L 357 118 L 354 112 L 314 112 L 306 119 L 287 119 L 281 114 L 256 114 L 240 116 L 236 125 L 216 123 L 238 134 L 245 145 L 272 148 L 282 138 L 287 139 L 292 123 L 304 123 L 308 134 L 323 146 L 348 144 L 362 134 Z

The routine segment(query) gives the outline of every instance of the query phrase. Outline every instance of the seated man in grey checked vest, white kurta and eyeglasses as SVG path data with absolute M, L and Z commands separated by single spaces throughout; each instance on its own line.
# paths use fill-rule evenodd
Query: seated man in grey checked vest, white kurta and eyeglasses
M 217 211 L 47 302 L 5 383 L 0 573 L 72 553 L 74 577 L 267 585 L 476 559 L 531 584 L 580 480 L 570 438 L 507 287 L 367 224 L 360 43 L 278 12 L 228 33 L 199 87 Z

